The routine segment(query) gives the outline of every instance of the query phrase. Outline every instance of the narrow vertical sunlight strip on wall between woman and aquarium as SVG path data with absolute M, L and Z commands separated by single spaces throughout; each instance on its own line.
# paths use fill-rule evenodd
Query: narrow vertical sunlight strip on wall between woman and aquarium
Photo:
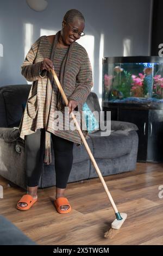
M 103 57 L 104 57 L 104 34 L 101 34 L 99 43 L 99 82 L 98 82 L 98 92 L 102 95 L 102 80 L 103 80 Z

